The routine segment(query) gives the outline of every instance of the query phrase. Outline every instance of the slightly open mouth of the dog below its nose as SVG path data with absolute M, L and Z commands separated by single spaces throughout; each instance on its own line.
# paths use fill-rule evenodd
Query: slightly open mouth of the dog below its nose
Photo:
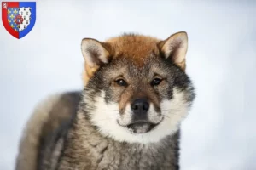
M 152 122 L 138 121 L 132 122 L 127 126 L 127 128 L 131 131 L 131 133 L 148 133 L 158 124 L 159 123 L 155 124 Z

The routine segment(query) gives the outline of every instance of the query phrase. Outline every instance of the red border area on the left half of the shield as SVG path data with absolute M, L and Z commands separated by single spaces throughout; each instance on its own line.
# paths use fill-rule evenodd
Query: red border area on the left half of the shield
M 19 2 L 2 2 L 7 3 L 7 8 L 2 8 L 2 20 L 3 26 L 9 33 L 19 39 L 19 32 L 15 31 L 8 23 L 8 8 L 19 8 Z

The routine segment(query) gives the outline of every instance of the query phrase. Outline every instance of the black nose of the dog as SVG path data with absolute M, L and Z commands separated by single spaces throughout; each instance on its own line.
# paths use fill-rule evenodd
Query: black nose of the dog
M 136 115 L 146 115 L 149 109 L 149 104 L 147 99 L 136 99 L 131 104 L 131 110 Z

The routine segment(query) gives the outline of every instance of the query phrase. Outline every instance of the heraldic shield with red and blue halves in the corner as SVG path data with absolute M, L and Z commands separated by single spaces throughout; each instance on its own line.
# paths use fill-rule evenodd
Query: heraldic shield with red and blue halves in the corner
M 2 2 L 2 21 L 13 37 L 25 37 L 36 22 L 36 2 Z

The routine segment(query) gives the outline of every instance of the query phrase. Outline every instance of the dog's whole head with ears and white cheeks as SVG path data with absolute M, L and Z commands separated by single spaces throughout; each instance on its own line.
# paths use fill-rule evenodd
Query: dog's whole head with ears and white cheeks
M 125 35 L 84 39 L 84 105 L 106 136 L 125 142 L 157 142 L 175 133 L 194 99 L 184 57 L 187 37 L 166 41 Z

